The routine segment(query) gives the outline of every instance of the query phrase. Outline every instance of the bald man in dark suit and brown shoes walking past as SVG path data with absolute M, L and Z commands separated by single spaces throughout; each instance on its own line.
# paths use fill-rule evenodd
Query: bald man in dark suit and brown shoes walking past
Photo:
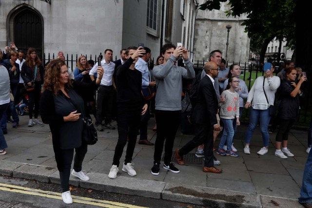
M 205 166 L 204 172 L 221 173 L 222 169 L 214 167 L 214 130 L 220 131 L 216 119 L 218 111 L 218 98 L 215 93 L 215 77 L 218 76 L 218 66 L 215 62 L 207 62 L 204 66 L 204 76 L 197 90 L 196 105 L 193 110 L 192 121 L 195 126 L 195 137 L 180 150 L 176 149 L 176 160 L 179 165 L 184 165 L 183 155 L 192 151 L 198 145 L 204 144 Z

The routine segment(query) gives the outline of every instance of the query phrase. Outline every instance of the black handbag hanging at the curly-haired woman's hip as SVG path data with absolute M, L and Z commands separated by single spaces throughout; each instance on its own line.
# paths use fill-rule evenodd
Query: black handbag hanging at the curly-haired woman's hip
M 98 132 L 90 118 L 82 118 L 83 129 L 81 139 L 84 144 L 94 145 L 98 141 Z

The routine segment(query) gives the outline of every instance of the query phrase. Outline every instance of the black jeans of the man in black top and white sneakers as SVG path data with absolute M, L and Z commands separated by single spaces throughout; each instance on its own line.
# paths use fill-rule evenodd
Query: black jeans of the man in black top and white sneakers
M 142 108 L 118 108 L 117 111 L 117 127 L 118 127 L 118 141 L 115 148 L 113 158 L 113 165 L 119 167 L 119 160 L 121 158 L 123 148 L 127 143 L 129 137 L 125 164 L 131 163 L 133 152 L 137 143 L 137 132 L 140 126 Z

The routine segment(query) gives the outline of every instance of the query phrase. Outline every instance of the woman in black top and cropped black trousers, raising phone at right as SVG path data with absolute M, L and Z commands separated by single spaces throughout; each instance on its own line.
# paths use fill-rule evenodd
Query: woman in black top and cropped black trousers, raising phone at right
M 297 70 L 294 67 L 285 69 L 285 77 L 286 78 L 281 81 L 277 90 L 281 102 L 278 107 L 278 116 L 280 119 L 279 129 L 275 138 L 275 156 L 283 159 L 286 159 L 287 156 L 294 156 L 292 152 L 287 149 L 288 135 L 295 119 L 298 117 L 300 107 L 299 96 L 302 95 L 300 89 L 301 84 L 307 80 L 306 76 L 301 76 L 296 84 Z

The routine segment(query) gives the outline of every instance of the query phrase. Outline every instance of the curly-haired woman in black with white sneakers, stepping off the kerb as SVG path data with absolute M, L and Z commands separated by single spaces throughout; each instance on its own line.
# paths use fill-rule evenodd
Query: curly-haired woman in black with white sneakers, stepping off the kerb
M 43 93 L 40 99 L 40 113 L 43 123 L 49 124 L 53 150 L 57 162 L 62 198 L 64 203 L 73 203 L 69 190 L 69 176 L 74 159 L 72 175 L 83 181 L 89 177 L 82 172 L 82 161 L 87 144 L 81 141 L 82 117 L 86 117 L 85 101 L 90 92 L 96 91 L 104 70 L 98 67 L 98 78 L 91 83 L 71 83 L 65 62 L 61 59 L 50 61 L 45 73 Z

